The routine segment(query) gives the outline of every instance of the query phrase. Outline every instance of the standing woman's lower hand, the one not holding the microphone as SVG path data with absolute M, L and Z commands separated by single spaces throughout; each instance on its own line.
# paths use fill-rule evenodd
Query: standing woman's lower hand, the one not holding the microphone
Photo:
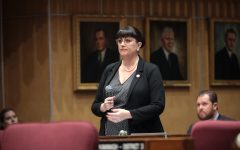
M 126 119 L 131 119 L 132 115 L 128 110 L 116 108 L 116 109 L 111 109 L 111 112 L 107 113 L 107 118 L 109 121 L 118 123 Z

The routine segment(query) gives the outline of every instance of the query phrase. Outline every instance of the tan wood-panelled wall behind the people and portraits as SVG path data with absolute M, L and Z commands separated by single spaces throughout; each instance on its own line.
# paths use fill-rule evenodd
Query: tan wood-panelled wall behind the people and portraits
M 24 122 L 87 120 L 98 127 L 99 118 L 90 110 L 96 91 L 73 91 L 72 15 L 127 16 L 126 24 L 144 33 L 146 17 L 188 18 L 192 31 L 188 64 L 191 86 L 166 87 L 166 109 L 161 115 L 165 130 L 185 133 L 188 125 L 197 120 L 197 93 L 208 88 L 217 91 L 220 112 L 239 120 L 240 87 L 209 84 L 209 19 L 240 19 L 240 4 L 235 0 L 227 2 L 4 0 L 6 104 L 16 108 Z M 143 51 L 145 57 L 146 48 Z

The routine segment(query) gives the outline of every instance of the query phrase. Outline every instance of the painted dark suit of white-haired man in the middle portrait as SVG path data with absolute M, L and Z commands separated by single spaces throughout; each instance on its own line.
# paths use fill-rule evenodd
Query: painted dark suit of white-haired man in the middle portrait
M 151 54 L 150 61 L 159 67 L 163 80 L 183 80 L 177 55 L 170 53 L 168 57 L 169 60 L 166 59 L 163 49 L 160 48 Z

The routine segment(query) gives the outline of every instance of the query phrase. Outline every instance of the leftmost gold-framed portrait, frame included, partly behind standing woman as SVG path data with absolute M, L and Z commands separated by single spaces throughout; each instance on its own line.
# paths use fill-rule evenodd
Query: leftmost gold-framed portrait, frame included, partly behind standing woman
M 115 34 L 121 18 L 73 16 L 74 90 L 95 90 L 105 67 L 119 60 Z

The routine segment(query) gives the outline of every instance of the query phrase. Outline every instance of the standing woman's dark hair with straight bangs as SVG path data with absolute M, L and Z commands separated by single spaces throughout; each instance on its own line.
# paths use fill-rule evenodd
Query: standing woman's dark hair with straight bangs
M 116 39 L 118 38 L 124 38 L 124 37 L 133 37 L 137 40 L 137 42 L 141 42 L 141 48 L 145 45 L 145 39 L 142 35 L 142 33 L 133 26 L 126 26 L 124 28 L 121 28 L 118 30 L 116 34 Z

